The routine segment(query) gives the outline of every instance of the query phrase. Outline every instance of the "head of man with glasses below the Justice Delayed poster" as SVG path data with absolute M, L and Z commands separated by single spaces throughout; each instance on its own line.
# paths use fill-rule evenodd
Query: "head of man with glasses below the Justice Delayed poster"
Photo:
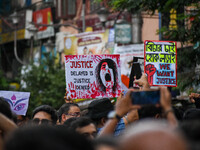
M 65 103 L 58 110 L 58 118 L 60 124 L 63 124 L 69 118 L 80 116 L 81 110 L 75 103 Z

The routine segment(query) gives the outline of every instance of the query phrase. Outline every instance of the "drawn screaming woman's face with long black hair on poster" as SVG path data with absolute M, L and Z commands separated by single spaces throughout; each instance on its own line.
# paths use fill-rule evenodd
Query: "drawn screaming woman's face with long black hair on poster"
M 100 92 L 103 95 L 114 97 L 117 94 L 118 87 L 116 63 L 112 59 L 102 59 L 97 65 L 95 73 Z

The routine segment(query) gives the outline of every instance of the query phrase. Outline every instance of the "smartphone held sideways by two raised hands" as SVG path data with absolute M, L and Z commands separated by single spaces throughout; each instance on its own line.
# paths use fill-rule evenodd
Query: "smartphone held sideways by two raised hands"
M 146 105 L 160 102 L 160 90 L 131 92 L 132 104 Z

